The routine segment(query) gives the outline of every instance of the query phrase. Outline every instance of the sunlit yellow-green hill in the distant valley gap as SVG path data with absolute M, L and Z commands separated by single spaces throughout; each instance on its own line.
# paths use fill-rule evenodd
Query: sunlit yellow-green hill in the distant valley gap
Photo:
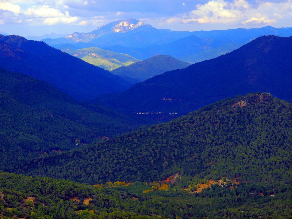
M 65 51 L 65 49 L 62 51 Z M 69 54 L 108 71 L 140 61 L 126 54 L 116 53 L 97 47 L 77 49 L 69 52 Z

